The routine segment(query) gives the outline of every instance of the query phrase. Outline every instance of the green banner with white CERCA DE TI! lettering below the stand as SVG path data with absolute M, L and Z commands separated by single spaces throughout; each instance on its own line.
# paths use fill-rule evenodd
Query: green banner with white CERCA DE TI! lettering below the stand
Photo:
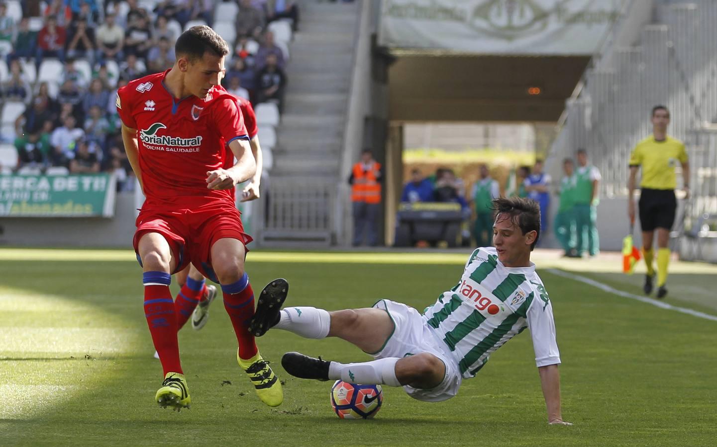
M 0 175 L 0 217 L 113 217 L 115 177 Z

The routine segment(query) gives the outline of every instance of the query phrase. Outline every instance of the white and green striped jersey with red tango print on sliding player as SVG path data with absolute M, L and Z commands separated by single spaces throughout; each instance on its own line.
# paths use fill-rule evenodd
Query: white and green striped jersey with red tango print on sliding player
M 560 363 L 553 308 L 536 266 L 505 267 L 495 248 L 476 249 L 458 283 L 424 313 L 424 323 L 443 340 L 470 378 L 488 356 L 530 328 L 538 366 Z

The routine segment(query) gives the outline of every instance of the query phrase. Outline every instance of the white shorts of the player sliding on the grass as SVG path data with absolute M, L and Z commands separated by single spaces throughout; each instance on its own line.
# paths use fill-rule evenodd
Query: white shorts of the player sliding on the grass
M 424 324 L 418 310 L 391 300 L 379 300 L 373 307 L 386 310 L 394 322 L 394 332 L 389 335 L 379 352 L 371 354 L 374 358 L 404 358 L 407 355 L 431 353 L 440 358 L 446 367 L 445 377 L 437 387 L 424 390 L 405 385 L 403 388 L 406 393 L 414 399 L 426 402 L 446 401 L 455 396 L 463 380 L 458 365 L 447 352 L 445 343 Z

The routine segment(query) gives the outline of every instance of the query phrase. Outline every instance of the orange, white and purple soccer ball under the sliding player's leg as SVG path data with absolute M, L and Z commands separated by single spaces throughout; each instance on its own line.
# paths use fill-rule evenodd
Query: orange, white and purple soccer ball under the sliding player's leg
M 331 387 L 331 407 L 341 419 L 369 419 L 384 402 L 381 385 L 358 385 L 336 380 Z

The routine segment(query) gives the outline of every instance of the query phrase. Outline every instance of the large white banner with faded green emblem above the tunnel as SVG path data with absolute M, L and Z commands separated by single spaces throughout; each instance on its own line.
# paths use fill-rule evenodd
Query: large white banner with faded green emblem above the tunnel
M 475 54 L 592 55 L 620 0 L 384 0 L 379 43 Z

